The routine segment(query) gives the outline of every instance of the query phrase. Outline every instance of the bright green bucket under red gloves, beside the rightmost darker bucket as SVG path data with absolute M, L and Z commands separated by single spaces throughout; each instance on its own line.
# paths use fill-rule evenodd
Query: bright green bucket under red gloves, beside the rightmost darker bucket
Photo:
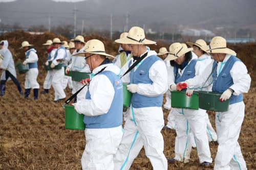
M 198 93 L 193 93 L 190 97 L 185 91 L 171 91 L 171 106 L 173 108 L 199 109 Z

